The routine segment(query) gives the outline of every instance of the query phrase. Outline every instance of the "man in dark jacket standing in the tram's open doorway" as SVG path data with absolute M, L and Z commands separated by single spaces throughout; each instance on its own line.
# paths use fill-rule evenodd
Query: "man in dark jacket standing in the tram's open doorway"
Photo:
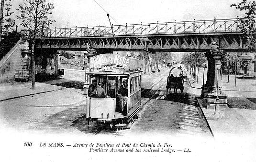
M 128 96 L 127 80 L 124 80 L 124 81 L 122 81 L 122 85 L 120 86 L 120 88 L 118 90 L 119 104 L 121 106 L 122 112 L 127 103 L 127 96 Z

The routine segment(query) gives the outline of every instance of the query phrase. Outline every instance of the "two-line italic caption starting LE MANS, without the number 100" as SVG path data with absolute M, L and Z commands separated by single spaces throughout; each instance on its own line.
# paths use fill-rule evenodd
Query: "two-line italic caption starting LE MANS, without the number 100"
M 88 148 L 89 152 L 191 152 L 190 148 L 173 148 L 169 143 L 46 143 L 40 142 L 39 147 L 73 147 Z

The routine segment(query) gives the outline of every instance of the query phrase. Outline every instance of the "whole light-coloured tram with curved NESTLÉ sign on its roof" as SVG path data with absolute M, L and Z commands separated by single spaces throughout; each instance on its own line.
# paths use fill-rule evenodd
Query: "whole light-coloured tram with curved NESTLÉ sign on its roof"
M 127 127 L 141 109 L 140 59 L 118 54 L 100 54 L 91 57 L 89 61 L 88 82 L 93 84 L 94 81 L 95 91 L 98 91 L 97 87 L 101 87 L 101 96 L 89 94 L 90 88 L 87 88 L 88 125 L 90 121 L 96 121 L 98 126 Z M 124 94 L 120 92 L 121 86 Z

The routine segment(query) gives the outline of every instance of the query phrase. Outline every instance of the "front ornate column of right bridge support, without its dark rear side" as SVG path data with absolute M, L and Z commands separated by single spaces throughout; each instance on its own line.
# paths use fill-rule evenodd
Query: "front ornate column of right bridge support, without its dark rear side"
M 211 81 L 213 81 L 214 86 L 212 87 L 211 93 L 207 94 L 207 109 L 214 109 L 216 105 L 217 91 L 219 97 L 219 108 L 227 107 L 227 95 L 222 91 L 220 73 L 217 70 L 217 64 L 221 63 L 221 57 L 223 55 L 223 52 L 223 50 L 219 50 L 216 42 L 212 42 L 211 55 L 213 56 L 214 60 L 214 64 L 212 64 L 214 66 L 214 71 L 211 71 L 213 72 L 211 73 L 211 79 L 213 79 Z

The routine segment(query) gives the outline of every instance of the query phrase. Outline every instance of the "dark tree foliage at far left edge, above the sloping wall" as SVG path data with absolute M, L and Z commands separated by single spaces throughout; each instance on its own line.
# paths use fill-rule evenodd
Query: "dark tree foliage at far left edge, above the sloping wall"
M 11 15 L 14 12 L 11 11 L 11 0 L 1 0 L 0 10 L 0 36 L 2 32 L 9 31 L 14 26 L 15 20 L 11 19 Z

